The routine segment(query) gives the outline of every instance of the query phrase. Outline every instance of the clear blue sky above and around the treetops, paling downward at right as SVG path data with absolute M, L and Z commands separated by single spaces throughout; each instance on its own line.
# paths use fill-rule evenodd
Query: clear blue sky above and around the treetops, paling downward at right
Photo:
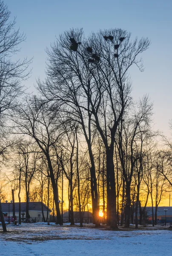
M 172 0 L 4 0 L 16 27 L 26 33 L 19 57 L 34 57 L 31 78 L 45 77 L 45 48 L 64 30 L 82 27 L 85 34 L 98 29 L 122 28 L 138 38 L 148 37 L 151 46 L 143 53 L 145 71 L 132 67 L 132 95 L 149 94 L 154 103 L 155 129 L 169 135 L 172 119 Z

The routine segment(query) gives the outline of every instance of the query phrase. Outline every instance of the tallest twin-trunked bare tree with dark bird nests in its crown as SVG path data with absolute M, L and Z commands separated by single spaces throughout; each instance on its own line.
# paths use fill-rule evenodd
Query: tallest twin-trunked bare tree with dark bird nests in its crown
M 132 64 L 143 70 L 138 55 L 149 47 L 147 38 L 132 42 L 130 36 L 122 29 L 92 33 L 88 38 L 84 38 L 82 29 L 65 32 L 52 44 L 51 50 L 47 49 L 48 79 L 38 84 L 46 100 L 63 102 L 64 113 L 70 113 L 83 129 L 92 164 L 94 218 L 98 216 L 98 193 L 91 128 L 96 127 L 100 133 L 106 148 L 107 222 L 112 228 L 117 228 L 115 133 L 130 102 L 128 70 Z

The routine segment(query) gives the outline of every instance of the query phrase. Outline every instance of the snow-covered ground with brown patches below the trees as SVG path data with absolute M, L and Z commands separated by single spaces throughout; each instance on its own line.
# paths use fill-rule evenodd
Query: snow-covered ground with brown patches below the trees
M 172 256 L 170 230 L 22 224 L 8 227 L 8 231 L 0 233 L 2 256 Z

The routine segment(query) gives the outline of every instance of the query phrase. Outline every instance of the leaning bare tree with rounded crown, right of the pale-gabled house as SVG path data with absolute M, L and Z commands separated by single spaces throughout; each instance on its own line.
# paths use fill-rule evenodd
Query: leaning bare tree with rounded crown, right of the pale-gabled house
M 52 111 L 47 105 L 40 105 L 36 97 L 26 100 L 25 105 L 20 105 L 12 118 L 17 134 L 25 134 L 37 143 L 40 153 L 46 157 L 49 175 L 52 182 L 54 202 L 57 211 L 57 224 L 60 224 L 60 207 L 58 194 L 58 174 L 54 165 L 54 144 L 59 140 L 63 131 L 58 129 L 57 111 Z

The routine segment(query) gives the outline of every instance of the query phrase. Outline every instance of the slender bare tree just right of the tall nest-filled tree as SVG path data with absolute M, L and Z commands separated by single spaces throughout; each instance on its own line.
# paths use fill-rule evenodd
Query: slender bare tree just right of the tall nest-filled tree
M 119 128 L 119 157 L 126 183 L 125 226 L 129 227 L 131 206 L 131 184 L 135 169 L 137 169 L 138 191 L 140 186 L 140 172 L 142 172 L 143 139 L 149 134 L 152 116 L 152 103 L 144 96 L 138 103 L 138 110 L 134 109 L 129 119 L 120 123 Z M 140 145 L 139 145 L 140 144 Z M 140 161 L 138 168 L 138 161 Z M 139 175 L 139 176 L 138 176 Z M 137 198 L 137 201 L 139 199 Z M 138 203 L 137 203 L 138 204 Z

